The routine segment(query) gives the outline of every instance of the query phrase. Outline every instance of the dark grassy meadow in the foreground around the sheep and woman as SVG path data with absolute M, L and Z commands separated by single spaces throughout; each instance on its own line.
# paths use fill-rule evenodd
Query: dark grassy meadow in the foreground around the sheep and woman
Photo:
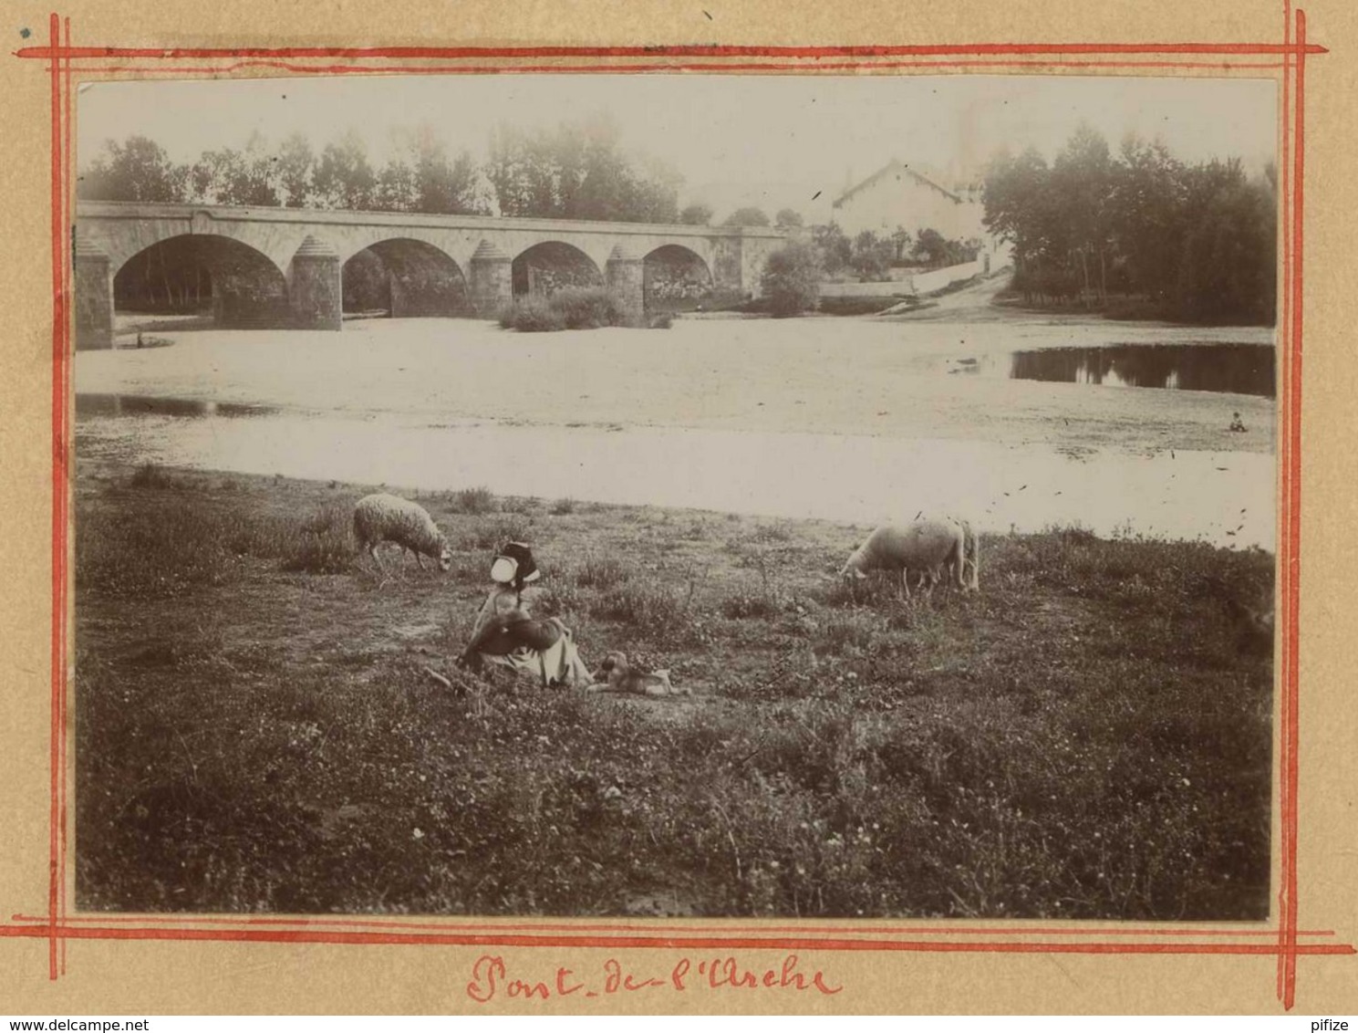
M 831 576 L 866 527 L 473 489 L 420 497 L 451 572 L 382 576 L 364 491 L 81 463 L 81 908 L 1267 915 L 1266 553 L 987 536 L 907 605 Z M 587 662 L 695 695 L 455 669 L 505 538 Z

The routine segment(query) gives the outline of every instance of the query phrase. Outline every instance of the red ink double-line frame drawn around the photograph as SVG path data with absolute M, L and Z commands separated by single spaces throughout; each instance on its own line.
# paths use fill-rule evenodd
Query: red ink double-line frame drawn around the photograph
M 52 72 L 52 232 L 53 232 L 53 548 L 52 548 L 52 806 L 49 828 L 49 900 L 43 919 L 15 920 L 22 924 L 0 924 L 0 938 L 45 938 L 49 941 L 49 976 L 57 979 L 65 972 L 65 945 L 69 939 L 166 939 L 166 941 L 251 941 L 273 943 L 436 943 L 436 945 L 496 945 L 496 946 L 576 946 L 576 947 L 683 947 L 722 950 L 740 947 L 759 949 L 804 949 L 804 950 L 922 950 L 922 951 L 1001 951 L 1001 953 L 1099 953 L 1099 954 L 1275 954 L 1278 957 L 1278 996 L 1285 1009 L 1291 1009 L 1296 1000 L 1297 958 L 1301 954 L 1354 954 L 1347 943 L 1300 943 L 1302 936 L 1332 936 L 1334 932 L 1301 931 L 1297 928 L 1297 764 L 1298 764 L 1298 617 L 1300 617 L 1300 519 L 1301 519 L 1301 340 L 1302 340 L 1302 175 L 1304 163 L 1304 84 L 1305 56 L 1323 54 L 1328 50 L 1308 43 L 1305 37 L 1305 15 L 1293 12 L 1290 0 L 1285 4 L 1285 31 L 1282 43 L 959 43 L 933 46 L 820 46 L 820 48 L 762 48 L 762 46 L 656 46 L 656 48 L 239 48 L 239 49 L 144 49 L 144 48 L 75 48 L 71 45 L 71 22 L 53 14 L 50 16 L 49 46 L 24 48 L 15 56 L 23 58 L 43 58 L 50 61 Z M 1291 35 L 1296 16 L 1296 41 Z M 1114 61 L 1051 60 L 1067 56 L 1123 56 L 1123 54 L 1200 54 L 1226 57 L 1268 56 L 1271 63 L 1221 61 Z M 994 57 L 999 60 L 956 60 L 964 56 L 972 58 Z M 244 68 L 274 68 L 303 75 L 318 73 L 527 73 L 527 72 L 579 72 L 579 73 L 641 73 L 641 72 L 732 72 L 732 71 L 873 71 L 902 68 L 1154 68 L 1154 69 L 1213 69 L 1232 72 L 1237 69 L 1282 69 L 1282 213 L 1281 235 L 1283 249 L 1282 292 L 1279 303 L 1278 333 L 1282 345 L 1283 385 L 1281 408 L 1283 432 L 1281 440 L 1281 536 L 1279 561 L 1282 579 L 1279 584 L 1283 623 L 1281 629 L 1281 703 L 1279 720 L 1279 897 L 1278 930 L 1203 930 L 1192 927 L 1135 928 L 938 928 L 909 927 L 885 930 L 883 927 L 862 930 L 864 936 L 881 936 L 899 931 L 902 935 L 1162 935 L 1162 936 L 1277 936 L 1275 945 L 1268 943 L 1118 943 L 1118 942 L 1014 942 L 1014 941 L 898 941 L 898 939 L 834 939 L 818 936 L 818 932 L 846 931 L 827 927 L 807 926 L 785 930 L 801 932 L 801 936 L 771 935 L 775 930 L 760 927 L 712 928 L 710 938 L 697 936 L 693 926 L 679 927 L 680 935 L 569 935 L 570 931 L 598 932 L 615 930 L 630 932 L 631 926 L 564 926 L 559 934 L 545 935 L 550 926 L 485 926 L 485 932 L 466 931 L 467 926 L 402 922 L 359 922 L 320 919 L 272 919 L 262 916 L 220 916 L 220 917 L 99 917 L 68 916 L 67 913 L 67 731 L 69 720 L 69 686 L 67 671 L 68 655 L 68 548 L 69 548 L 69 472 L 71 472 L 71 299 L 72 269 L 68 264 L 71 250 L 69 228 L 73 226 L 72 207 L 72 65 L 75 61 L 126 61 L 126 60 L 216 60 L 235 58 L 230 65 L 185 65 L 166 67 L 163 64 L 134 67 L 128 64 L 81 67 L 81 73 L 175 73 L 175 75 L 224 75 Z M 733 64 L 727 58 L 766 58 L 760 63 Z M 923 57 L 955 60 L 922 61 Z M 1017 60 L 1039 57 L 1048 60 Z M 380 58 L 429 60 L 444 58 L 466 61 L 470 58 L 528 60 L 528 58 L 650 58 L 652 64 L 589 64 L 589 65 L 483 65 L 456 64 L 447 67 L 409 65 L 363 65 L 363 64 L 291 64 L 284 58 L 316 60 L 344 58 L 346 61 L 372 61 Z M 698 64 L 676 64 L 655 58 L 699 58 Z M 767 58 L 782 58 L 782 64 Z M 849 58 L 830 64 L 823 58 Z M 883 58 L 911 58 L 885 61 Z M 809 61 L 809 63 L 808 63 Z M 1296 75 L 1296 87 L 1291 76 Z M 1293 143 L 1293 136 L 1296 141 Z M 1289 158 L 1291 159 L 1289 162 Z M 1290 188 L 1290 189 L 1289 189 Z M 73 924 L 90 922 L 95 924 Z M 105 924 L 96 924 L 96 923 Z M 128 923 L 128 924 L 120 924 Z M 140 924 L 137 924 L 140 923 Z M 163 923 L 156 927 L 158 923 Z M 194 928 L 194 923 L 198 924 Z M 225 926 L 225 928 L 204 928 L 204 924 Z M 263 926 L 300 926 L 300 928 L 265 928 Z M 326 930 L 322 926 L 346 924 L 348 930 Z M 231 928 L 235 926 L 235 928 Z M 243 926 L 243 928 L 242 928 Z M 373 926 L 386 931 L 353 931 L 354 926 Z M 417 930 L 422 932 L 392 932 L 391 930 Z M 462 931 L 459 931 L 459 928 Z M 513 928 L 535 928 L 536 935 L 515 934 Z M 655 926 L 645 928 L 656 930 Z M 439 931 L 433 931 L 439 930 Z M 60 943 L 60 947 L 58 947 Z

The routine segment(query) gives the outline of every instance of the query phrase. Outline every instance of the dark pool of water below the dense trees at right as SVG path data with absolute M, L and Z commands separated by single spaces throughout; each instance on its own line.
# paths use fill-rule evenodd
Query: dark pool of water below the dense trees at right
M 978 368 L 975 366 L 961 368 Z M 1274 349 L 1256 344 L 1123 344 L 1014 352 L 1016 381 L 1277 396 Z

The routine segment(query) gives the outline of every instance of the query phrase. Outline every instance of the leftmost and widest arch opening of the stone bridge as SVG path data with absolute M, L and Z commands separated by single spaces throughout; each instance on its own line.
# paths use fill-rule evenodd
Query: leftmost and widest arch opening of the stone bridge
M 210 317 L 223 328 L 289 322 L 282 270 L 265 253 L 231 237 L 164 237 L 125 257 L 111 275 L 114 314 Z

